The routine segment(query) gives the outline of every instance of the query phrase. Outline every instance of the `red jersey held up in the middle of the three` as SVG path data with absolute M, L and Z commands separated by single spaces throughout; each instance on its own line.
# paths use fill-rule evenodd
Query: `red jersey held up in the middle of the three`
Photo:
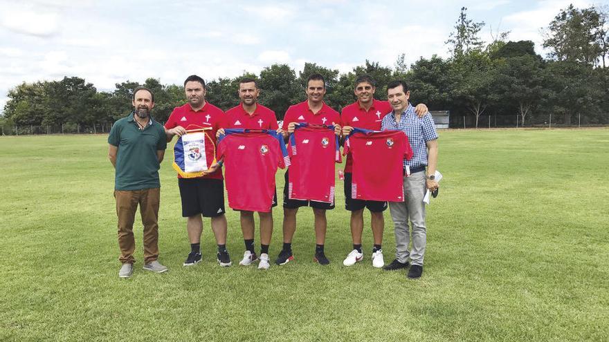
M 334 126 L 297 124 L 290 136 L 288 197 L 334 203 L 334 164 L 341 162 Z

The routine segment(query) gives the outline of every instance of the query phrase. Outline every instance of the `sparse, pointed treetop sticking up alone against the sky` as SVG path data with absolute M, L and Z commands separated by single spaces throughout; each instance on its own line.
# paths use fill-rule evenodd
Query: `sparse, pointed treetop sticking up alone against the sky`
M 479 23 L 467 19 L 467 8 L 462 7 L 459 19 L 455 22 L 455 32 L 451 32 L 444 44 L 449 44 L 449 50 L 453 58 L 458 59 L 473 51 L 481 51 L 484 41 L 478 37 L 478 33 L 484 27 L 484 21 Z

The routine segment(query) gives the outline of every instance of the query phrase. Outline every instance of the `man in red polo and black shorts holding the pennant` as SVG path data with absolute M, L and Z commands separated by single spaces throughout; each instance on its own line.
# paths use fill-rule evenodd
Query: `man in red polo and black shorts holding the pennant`
M 191 75 L 184 81 L 184 91 L 188 103 L 174 108 L 165 123 L 167 142 L 174 135 L 182 136 L 192 129 L 211 128 L 210 137 L 216 144 L 216 131 L 225 120 L 220 108 L 206 102 L 205 81 L 197 75 Z M 211 218 L 212 231 L 218 245 L 217 260 L 221 266 L 231 265 L 226 250 L 226 216 L 224 216 L 224 182 L 221 169 L 206 173 L 199 178 L 181 178 L 178 185 L 182 202 L 182 216 L 187 218 L 186 230 L 190 240 L 190 253 L 184 266 L 194 265 L 201 261 L 201 232 L 203 217 Z

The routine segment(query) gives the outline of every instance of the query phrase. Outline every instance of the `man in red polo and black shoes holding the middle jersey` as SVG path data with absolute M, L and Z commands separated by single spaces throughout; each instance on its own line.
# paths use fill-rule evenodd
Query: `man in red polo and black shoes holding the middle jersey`
M 300 102 L 288 108 L 283 124 L 282 131 L 284 131 L 284 137 L 288 137 L 289 134 L 294 133 L 294 125 L 300 122 L 306 122 L 308 124 L 326 124 L 335 125 L 334 133 L 340 135 L 340 115 L 337 111 L 330 108 L 323 102 L 324 95 L 326 93 L 325 79 L 322 75 L 313 74 L 309 76 L 307 80 L 307 100 Z M 285 186 L 284 186 L 284 218 L 283 218 L 283 248 L 280 252 L 275 263 L 278 265 L 284 265 L 289 261 L 293 260 L 292 255 L 292 238 L 296 231 L 296 213 L 299 207 L 310 206 L 313 207 L 313 214 L 315 215 L 315 258 L 314 260 L 320 265 L 328 265 L 330 261 L 324 254 L 324 243 L 326 237 L 326 210 L 334 209 L 334 202 L 316 202 L 308 200 L 291 200 L 289 198 L 288 184 L 289 184 L 289 171 L 285 173 Z

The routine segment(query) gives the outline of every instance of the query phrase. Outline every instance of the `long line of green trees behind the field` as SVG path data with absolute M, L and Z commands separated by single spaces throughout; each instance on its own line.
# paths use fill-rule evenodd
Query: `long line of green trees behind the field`
M 455 126 L 453 120 L 466 116 L 478 127 L 481 117 L 489 115 L 518 115 L 525 126 L 542 124 L 548 115 L 567 125 L 580 115 L 582 124 L 609 124 L 608 13 L 595 6 L 571 5 L 560 10 L 544 30 L 543 47 L 549 53 L 542 57 L 535 53 L 532 41 L 509 41 L 509 32 L 497 32 L 493 41 L 482 41 L 484 22 L 469 19 L 462 8 L 446 40 L 451 52 L 446 59 L 421 57 L 408 66 L 406 55 L 400 55 L 394 66 L 366 60 L 348 73 L 307 63 L 298 75 L 287 64 L 273 64 L 259 75 L 245 71 L 239 77 L 208 82 L 206 99 L 224 110 L 236 106 L 239 79 L 253 77 L 262 89 L 260 103 L 282 120 L 291 104 L 305 99 L 307 77 L 320 73 L 327 82 L 327 104 L 340 111 L 355 100 L 356 77 L 367 74 L 376 80 L 379 99 L 385 99 L 390 80 L 406 80 L 411 102 L 451 111 L 451 126 Z M 131 92 L 137 86 L 154 92 L 153 113 L 158 121 L 165 122 L 173 108 L 185 102 L 183 86 L 161 84 L 154 77 L 143 84 L 122 82 L 109 92 L 97 91 L 80 77 L 64 77 L 12 88 L 0 125 L 110 126 L 131 111 Z

